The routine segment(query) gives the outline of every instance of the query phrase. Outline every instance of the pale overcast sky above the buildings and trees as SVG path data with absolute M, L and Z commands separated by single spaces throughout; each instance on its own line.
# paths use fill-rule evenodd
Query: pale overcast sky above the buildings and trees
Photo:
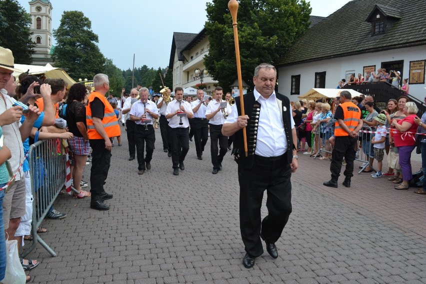
M 26 0 L 18 0 L 27 11 Z M 120 69 L 166 67 L 174 31 L 198 33 L 206 21 L 208 0 L 50 0 L 52 28 L 59 26 L 63 11 L 79 10 L 91 20 L 99 36 L 98 46 Z M 348 0 L 311 0 L 312 15 L 327 16 Z M 53 39 L 53 44 L 55 41 Z

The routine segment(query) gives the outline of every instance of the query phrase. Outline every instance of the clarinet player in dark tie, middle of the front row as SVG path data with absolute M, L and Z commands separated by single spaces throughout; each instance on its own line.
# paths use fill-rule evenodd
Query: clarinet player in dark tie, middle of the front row
M 178 112 L 185 112 L 186 116 L 178 116 Z M 189 121 L 193 113 L 191 105 L 183 100 L 183 88 L 176 87 L 174 89 L 174 99 L 170 101 L 165 110 L 165 118 L 169 119 L 171 138 L 171 161 L 173 162 L 173 174 L 179 174 L 179 168 L 185 169 L 183 160 L 189 150 Z M 180 154 L 179 146 L 181 147 Z

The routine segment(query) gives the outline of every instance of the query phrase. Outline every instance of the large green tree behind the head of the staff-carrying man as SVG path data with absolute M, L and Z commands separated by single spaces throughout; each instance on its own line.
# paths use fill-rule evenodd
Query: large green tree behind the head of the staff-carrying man
M 206 33 L 210 43 L 204 65 L 225 90 L 237 78 L 232 18 L 228 1 L 207 2 Z M 253 88 L 253 70 L 275 64 L 309 27 L 305 0 L 240 0 L 237 23 L 242 79 Z

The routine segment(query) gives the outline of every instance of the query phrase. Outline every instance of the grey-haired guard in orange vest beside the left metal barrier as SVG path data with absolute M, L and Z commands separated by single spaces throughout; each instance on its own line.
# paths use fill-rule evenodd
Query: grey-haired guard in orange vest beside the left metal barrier
M 103 184 L 106 180 L 111 160 L 110 137 L 120 135 L 120 126 L 111 104 L 105 94 L 109 90 L 108 76 L 96 74 L 93 77 L 94 91 L 87 99 L 86 122 L 87 135 L 92 148 L 90 168 L 90 208 L 108 210 L 109 206 L 103 201 L 112 198 L 106 193 Z

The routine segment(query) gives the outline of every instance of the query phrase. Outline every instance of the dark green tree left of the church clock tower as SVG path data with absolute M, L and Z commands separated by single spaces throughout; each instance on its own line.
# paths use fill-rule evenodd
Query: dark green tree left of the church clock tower
M 16 0 L 0 1 L 0 46 L 12 50 L 15 63 L 32 63 L 30 25 L 31 17 Z

